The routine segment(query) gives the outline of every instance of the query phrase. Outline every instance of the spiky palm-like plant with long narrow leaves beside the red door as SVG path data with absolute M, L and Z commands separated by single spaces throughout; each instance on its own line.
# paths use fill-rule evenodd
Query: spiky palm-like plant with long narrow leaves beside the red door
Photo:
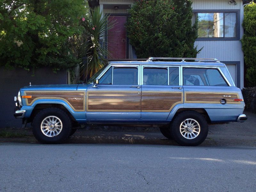
M 91 77 L 107 62 L 105 59 L 108 56 L 108 51 L 103 48 L 102 40 L 105 38 L 105 30 L 111 29 L 115 25 L 115 21 L 108 21 L 108 15 L 100 11 L 100 7 L 95 7 L 91 10 L 91 14 L 87 20 L 84 20 L 83 26 L 85 28 L 84 35 L 88 38 L 88 66 L 82 64 L 82 76 Z M 85 75 L 86 74 L 86 75 Z

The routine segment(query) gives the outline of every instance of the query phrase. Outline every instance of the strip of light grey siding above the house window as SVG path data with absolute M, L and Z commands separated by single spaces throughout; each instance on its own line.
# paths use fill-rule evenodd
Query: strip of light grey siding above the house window
M 241 0 L 236 0 L 235 3 L 229 4 L 228 0 L 192 0 L 192 8 L 200 10 L 214 10 L 214 9 L 240 9 L 243 2 Z

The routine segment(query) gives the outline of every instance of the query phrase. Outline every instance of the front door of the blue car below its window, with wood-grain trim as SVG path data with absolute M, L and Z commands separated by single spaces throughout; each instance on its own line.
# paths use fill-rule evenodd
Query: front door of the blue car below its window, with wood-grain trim
M 138 120 L 141 112 L 141 87 L 98 84 L 86 92 L 88 120 Z

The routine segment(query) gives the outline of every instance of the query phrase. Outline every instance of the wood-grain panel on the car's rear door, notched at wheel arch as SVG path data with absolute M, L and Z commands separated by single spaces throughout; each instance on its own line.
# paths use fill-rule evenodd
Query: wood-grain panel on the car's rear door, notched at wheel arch
M 183 103 L 182 92 L 142 92 L 141 111 L 168 112 L 179 103 Z

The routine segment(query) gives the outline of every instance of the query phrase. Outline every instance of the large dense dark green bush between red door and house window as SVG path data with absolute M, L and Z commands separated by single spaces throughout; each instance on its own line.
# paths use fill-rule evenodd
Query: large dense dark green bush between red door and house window
M 137 57 L 196 57 L 191 4 L 190 0 L 137 0 L 126 26 Z

